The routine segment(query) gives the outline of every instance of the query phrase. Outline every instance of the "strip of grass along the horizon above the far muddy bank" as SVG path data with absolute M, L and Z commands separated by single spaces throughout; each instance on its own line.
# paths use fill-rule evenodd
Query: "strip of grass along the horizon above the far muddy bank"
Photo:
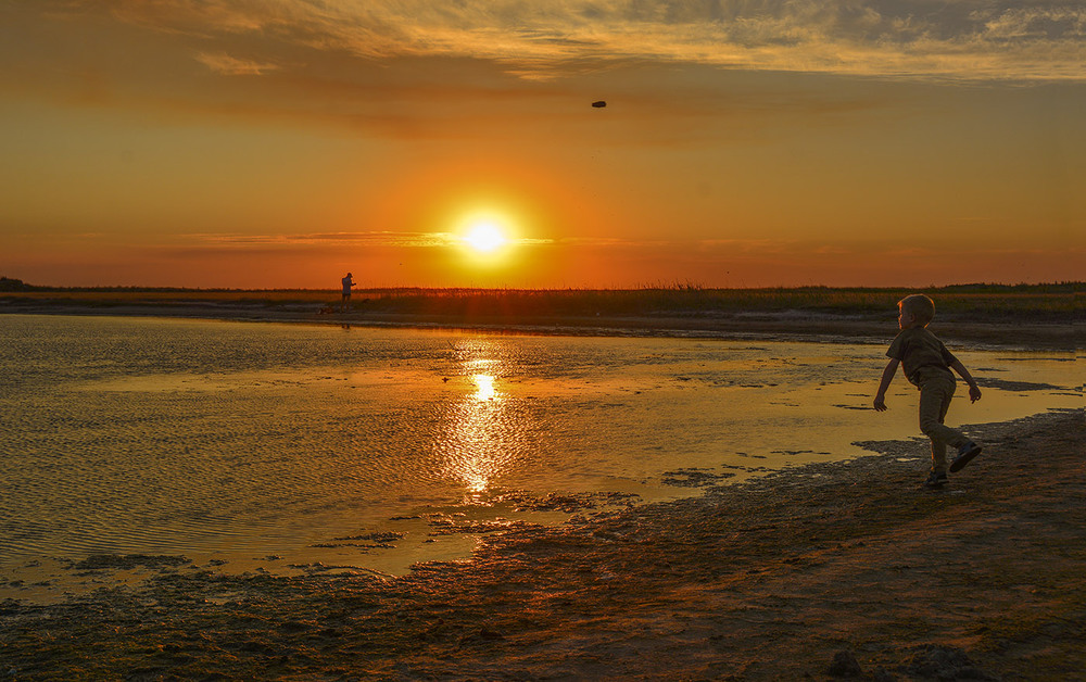
M 897 301 L 918 291 L 935 299 L 940 313 L 971 317 L 1019 316 L 1051 321 L 1079 318 L 1083 282 L 1041 285 L 957 285 L 912 288 L 797 287 L 709 289 L 690 283 L 639 289 L 363 289 L 355 290 L 357 313 L 482 317 L 560 316 L 715 316 L 735 313 L 781 313 L 893 316 Z M 313 306 L 314 312 L 339 303 L 338 290 L 165 289 L 165 288 L 33 288 L 0 293 L 0 302 L 122 305 L 264 306 L 272 310 Z

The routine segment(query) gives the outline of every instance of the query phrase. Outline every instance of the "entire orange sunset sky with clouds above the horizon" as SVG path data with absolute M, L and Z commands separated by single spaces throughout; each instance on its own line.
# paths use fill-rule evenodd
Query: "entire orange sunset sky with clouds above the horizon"
M 1082 280 L 1086 5 L 0 0 L 0 157 L 36 285 Z

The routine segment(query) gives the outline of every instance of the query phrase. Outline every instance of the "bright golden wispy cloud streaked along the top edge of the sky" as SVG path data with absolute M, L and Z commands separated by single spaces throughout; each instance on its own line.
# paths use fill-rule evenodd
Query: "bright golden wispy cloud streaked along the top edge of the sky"
M 647 61 L 973 80 L 1086 80 L 1086 8 L 1053 0 L 112 0 L 125 22 L 382 60 L 489 60 L 526 78 Z

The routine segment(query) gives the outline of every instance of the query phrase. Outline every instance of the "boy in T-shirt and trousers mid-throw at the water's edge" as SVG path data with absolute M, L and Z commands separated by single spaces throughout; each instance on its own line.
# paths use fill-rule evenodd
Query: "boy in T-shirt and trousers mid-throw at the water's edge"
M 947 445 L 958 449 L 958 455 L 950 463 L 951 472 L 960 470 L 981 454 L 976 443 L 943 424 L 955 389 L 950 369 L 969 384 L 970 402 L 981 400 L 981 389 L 965 366 L 935 334 L 927 331 L 927 325 L 935 317 L 935 303 L 931 299 L 921 293 L 913 294 L 898 301 L 897 307 L 900 311 L 897 323 L 901 332 L 886 351 L 891 359 L 883 370 L 874 408 L 886 411 L 886 389 L 897 372 L 897 366 L 904 365 L 906 378 L 920 389 L 920 430 L 932 439 L 932 471 L 924 484 L 939 488 L 947 482 Z

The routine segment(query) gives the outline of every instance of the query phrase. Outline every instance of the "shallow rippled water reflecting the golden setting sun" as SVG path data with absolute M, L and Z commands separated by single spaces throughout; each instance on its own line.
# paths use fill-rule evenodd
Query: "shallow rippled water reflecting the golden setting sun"
M 695 492 L 683 469 L 740 480 L 919 435 L 902 377 L 889 413 L 868 408 L 884 351 L 4 315 L 0 566 L 273 554 L 399 570 L 470 547 L 431 534 L 438 515 L 565 518 L 518 515 L 515 491 L 659 500 Z M 951 425 L 1082 407 L 1070 354 L 958 354 L 987 388 Z M 409 536 L 396 551 L 334 540 L 389 529 Z

